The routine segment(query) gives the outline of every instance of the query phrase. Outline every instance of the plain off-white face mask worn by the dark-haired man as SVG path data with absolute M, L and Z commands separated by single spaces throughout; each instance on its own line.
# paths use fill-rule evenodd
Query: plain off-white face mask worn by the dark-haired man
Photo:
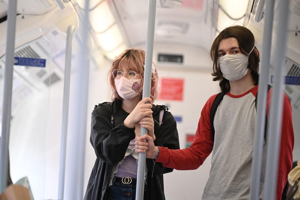
M 254 47 L 251 49 L 250 53 Z M 248 57 L 245 54 L 226 54 L 219 58 L 221 72 L 223 73 L 223 77 L 228 81 L 237 81 L 246 76 L 248 64 Z

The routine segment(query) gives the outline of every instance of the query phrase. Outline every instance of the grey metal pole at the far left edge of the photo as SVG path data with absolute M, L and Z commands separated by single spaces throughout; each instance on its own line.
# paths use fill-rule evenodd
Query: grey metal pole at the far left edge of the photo
M 2 132 L 0 149 L 0 192 L 7 186 L 8 175 L 8 143 L 10 133 L 11 106 L 12 106 L 12 74 L 14 64 L 15 35 L 16 35 L 17 0 L 8 2 L 6 56 L 4 72 L 4 93 L 2 112 Z

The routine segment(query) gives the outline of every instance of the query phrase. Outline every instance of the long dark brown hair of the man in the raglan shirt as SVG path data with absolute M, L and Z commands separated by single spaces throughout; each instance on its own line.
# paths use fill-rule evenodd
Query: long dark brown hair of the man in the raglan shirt
M 230 84 L 229 81 L 223 77 L 223 73 L 221 72 L 220 65 L 218 62 L 218 47 L 219 43 L 222 39 L 226 39 L 228 37 L 234 37 L 237 39 L 238 46 L 240 48 L 240 51 L 248 55 L 248 53 L 251 51 L 252 47 L 254 46 L 254 36 L 252 32 L 243 26 L 231 26 L 227 27 L 224 30 L 220 32 L 220 34 L 216 37 L 216 39 L 212 43 L 212 47 L 210 49 L 210 57 L 213 62 L 213 81 L 220 81 L 219 85 L 221 88 L 221 91 L 223 93 L 227 93 L 230 90 Z M 254 49 L 257 50 L 256 47 Z M 249 65 L 247 68 L 250 69 L 251 75 L 254 81 L 254 85 L 258 84 L 258 67 L 259 67 L 259 53 L 257 50 L 256 53 L 252 52 L 249 55 Z

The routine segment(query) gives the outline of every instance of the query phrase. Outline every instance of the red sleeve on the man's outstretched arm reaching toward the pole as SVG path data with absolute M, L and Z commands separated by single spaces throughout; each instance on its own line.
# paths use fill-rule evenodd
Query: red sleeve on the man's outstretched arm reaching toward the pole
M 176 150 L 159 147 L 157 162 L 163 163 L 164 167 L 177 170 L 192 170 L 202 165 L 212 152 L 213 138 L 210 125 L 210 109 L 216 96 L 217 94 L 210 97 L 202 108 L 195 139 L 191 146 Z

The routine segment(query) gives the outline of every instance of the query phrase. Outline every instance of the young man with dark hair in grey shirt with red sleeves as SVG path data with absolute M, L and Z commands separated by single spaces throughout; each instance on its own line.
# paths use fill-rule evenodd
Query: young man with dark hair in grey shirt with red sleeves
M 228 27 L 220 32 L 210 53 L 213 81 L 220 81 L 221 90 L 225 93 L 217 107 L 213 127 L 210 111 L 217 94 L 204 105 L 194 142 L 189 148 L 170 150 L 155 147 L 152 138 L 144 135 L 136 138 L 136 152 L 147 150 L 147 158 L 157 158 L 156 162 L 177 170 L 197 169 L 212 153 L 212 167 L 202 199 L 246 200 L 249 199 L 251 185 L 259 53 L 252 32 L 242 26 Z M 267 95 L 267 117 L 271 92 L 272 89 Z M 263 163 L 266 145 L 264 143 Z M 292 167 L 293 146 L 292 108 L 289 99 L 284 96 L 277 200 L 281 199 Z M 263 172 L 264 169 L 262 179 Z M 260 198 L 262 196 L 261 187 Z

